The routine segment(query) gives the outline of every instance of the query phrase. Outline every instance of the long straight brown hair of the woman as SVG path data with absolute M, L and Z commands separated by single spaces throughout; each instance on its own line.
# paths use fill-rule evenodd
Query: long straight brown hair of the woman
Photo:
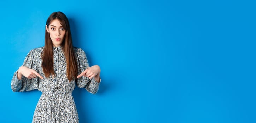
M 62 12 L 53 12 L 47 19 L 46 25 L 49 28 L 49 24 L 54 20 L 58 19 L 62 27 L 66 30 L 65 37 L 62 42 L 63 51 L 66 57 L 67 63 L 67 77 L 69 82 L 73 79 L 76 79 L 77 76 L 77 64 L 74 55 L 73 45 L 72 45 L 72 37 L 70 32 L 69 21 L 66 15 Z M 45 29 L 45 48 L 43 49 L 42 53 L 42 68 L 43 72 L 45 73 L 46 77 L 49 77 L 50 74 L 55 76 L 54 69 L 53 69 L 53 44 L 50 38 L 50 34 Z

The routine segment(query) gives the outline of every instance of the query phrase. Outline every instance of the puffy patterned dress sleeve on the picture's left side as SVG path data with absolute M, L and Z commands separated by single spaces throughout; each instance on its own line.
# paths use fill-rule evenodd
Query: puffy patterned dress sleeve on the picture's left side
M 37 58 L 33 50 L 31 50 L 28 53 L 22 66 L 26 66 L 38 72 Z M 11 88 L 13 92 L 23 92 L 23 91 L 38 89 L 39 77 L 28 79 L 22 76 L 21 80 L 19 80 L 17 77 L 17 73 L 18 73 L 18 70 L 14 72 L 14 75 L 11 81 Z

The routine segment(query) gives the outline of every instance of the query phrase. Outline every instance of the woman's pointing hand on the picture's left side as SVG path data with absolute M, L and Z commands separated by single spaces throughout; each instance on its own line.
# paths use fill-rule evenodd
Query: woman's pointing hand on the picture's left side
M 19 67 L 18 73 L 17 73 L 17 77 L 19 80 L 21 80 L 22 75 L 25 76 L 28 79 L 32 79 L 32 78 L 36 78 L 37 76 L 41 79 L 43 79 L 43 77 L 37 73 L 35 70 L 30 69 L 28 67 L 25 66 L 21 66 Z

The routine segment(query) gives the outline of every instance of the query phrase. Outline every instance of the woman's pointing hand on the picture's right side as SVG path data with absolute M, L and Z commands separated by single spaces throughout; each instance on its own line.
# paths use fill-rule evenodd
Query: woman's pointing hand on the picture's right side
M 84 76 L 84 77 L 88 77 L 89 79 L 92 79 L 95 76 L 99 76 L 99 74 L 100 74 L 100 67 L 98 65 L 93 65 L 85 69 L 85 71 L 83 71 L 80 75 L 78 75 L 77 78 Z

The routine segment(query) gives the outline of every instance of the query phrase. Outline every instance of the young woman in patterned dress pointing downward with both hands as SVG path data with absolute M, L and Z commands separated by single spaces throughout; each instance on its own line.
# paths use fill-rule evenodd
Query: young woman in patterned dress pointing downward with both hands
M 11 88 L 42 92 L 33 123 L 78 123 L 72 96 L 75 84 L 95 94 L 100 81 L 100 67 L 89 67 L 85 52 L 73 48 L 66 15 L 53 12 L 46 21 L 45 46 L 28 53 L 13 75 Z

